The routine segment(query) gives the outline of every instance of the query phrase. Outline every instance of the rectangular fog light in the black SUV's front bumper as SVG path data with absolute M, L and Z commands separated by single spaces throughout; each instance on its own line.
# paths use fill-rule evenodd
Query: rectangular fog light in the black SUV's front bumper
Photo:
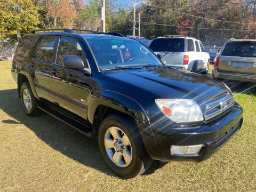
M 172 155 L 195 155 L 203 145 L 194 145 L 194 146 L 171 146 Z

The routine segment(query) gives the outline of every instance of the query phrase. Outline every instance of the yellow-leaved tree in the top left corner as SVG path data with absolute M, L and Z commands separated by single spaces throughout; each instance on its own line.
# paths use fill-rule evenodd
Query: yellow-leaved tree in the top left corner
M 19 41 L 22 34 L 37 28 L 38 7 L 33 0 L 0 0 L 0 30 L 2 38 Z

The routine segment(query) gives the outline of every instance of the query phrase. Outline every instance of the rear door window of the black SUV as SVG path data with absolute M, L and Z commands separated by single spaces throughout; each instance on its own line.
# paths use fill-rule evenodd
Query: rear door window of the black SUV
M 55 37 L 43 37 L 39 42 L 34 57 L 43 61 L 52 62 Z

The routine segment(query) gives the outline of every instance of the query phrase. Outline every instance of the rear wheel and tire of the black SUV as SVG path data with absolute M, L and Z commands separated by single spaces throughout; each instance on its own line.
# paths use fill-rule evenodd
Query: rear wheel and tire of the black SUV
M 24 82 L 20 87 L 20 98 L 22 107 L 29 116 L 38 115 L 36 99 L 28 82 Z

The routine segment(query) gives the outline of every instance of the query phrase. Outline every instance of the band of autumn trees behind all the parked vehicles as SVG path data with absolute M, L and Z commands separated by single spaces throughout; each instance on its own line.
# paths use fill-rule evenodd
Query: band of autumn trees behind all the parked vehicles
M 250 2 L 151 0 L 137 5 L 136 27 L 140 13 L 141 36 L 153 39 L 159 35 L 189 35 L 201 39 L 206 46 L 222 46 L 232 37 L 256 38 L 256 1 Z M 87 4 L 83 0 L 0 0 L 0 39 L 19 39 L 34 28 L 101 30 L 101 3 L 102 0 L 89 0 Z M 106 31 L 131 35 L 132 10 L 132 4 L 124 7 L 117 0 L 106 0 Z

